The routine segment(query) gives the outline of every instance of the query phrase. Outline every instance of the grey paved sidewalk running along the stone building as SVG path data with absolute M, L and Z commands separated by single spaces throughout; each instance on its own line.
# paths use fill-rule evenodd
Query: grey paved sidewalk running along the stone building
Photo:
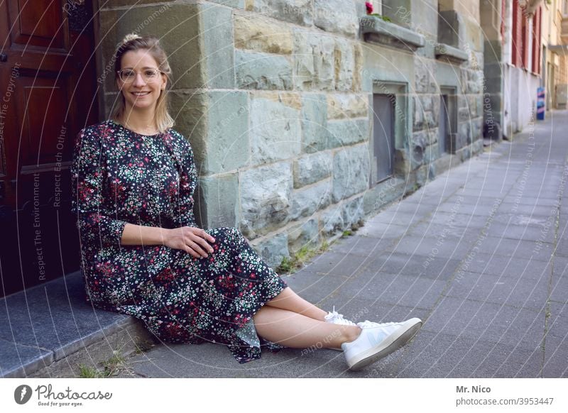
M 547 116 L 285 277 L 354 321 L 420 317 L 403 350 L 354 373 L 328 349 L 239 365 L 222 345 L 160 345 L 131 367 L 154 378 L 568 377 L 568 113 Z

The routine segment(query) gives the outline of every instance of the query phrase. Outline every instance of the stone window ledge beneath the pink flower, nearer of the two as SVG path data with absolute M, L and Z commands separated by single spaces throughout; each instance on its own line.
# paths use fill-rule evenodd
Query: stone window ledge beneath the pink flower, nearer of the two
M 398 26 L 398 24 L 384 21 L 376 16 L 361 17 L 359 24 L 366 42 L 378 43 L 393 48 L 408 48 L 413 52 L 426 44 L 423 35 L 403 26 Z

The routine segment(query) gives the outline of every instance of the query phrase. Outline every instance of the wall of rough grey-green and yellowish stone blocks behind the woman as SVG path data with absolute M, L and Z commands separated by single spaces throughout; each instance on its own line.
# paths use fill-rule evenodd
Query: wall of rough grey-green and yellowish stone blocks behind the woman
M 364 1 L 109 1 L 100 13 L 102 57 L 106 64 L 131 31 L 163 39 L 176 128 L 200 172 L 198 219 L 238 227 L 276 266 L 482 148 L 479 23 L 462 16 L 455 46 L 465 62 L 439 59 L 437 1 L 402 4 L 408 14 L 396 16 L 398 25 L 427 40 L 416 51 L 365 41 Z M 397 172 L 370 186 L 376 81 L 405 85 L 405 121 Z M 441 85 L 454 88 L 459 106 L 458 146 L 447 155 L 436 149 Z M 111 81 L 104 87 L 110 109 Z M 410 156 L 417 145 L 420 160 Z

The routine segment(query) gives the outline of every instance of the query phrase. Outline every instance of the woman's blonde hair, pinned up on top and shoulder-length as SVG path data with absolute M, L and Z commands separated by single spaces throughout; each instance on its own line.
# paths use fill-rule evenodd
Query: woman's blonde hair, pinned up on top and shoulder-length
M 168 89 L 170 86 L 170 80 L 172 75 L 172 70 L 170 68 L 170 63 L 168 62 L 168 56 L 160 45 L 158 38 L 154 36 L 140 36 L 136 33 L 131 33 L 124 36 L 124 39 L 116 46 L 116 52 L 114 53 L 114 77 L 115 80 L 119 79 L 119 70 L 121 70 L 122 56 L 131 51 L 136 50 L 148 50 L 155 61 L 158 63 L 158 68 L 167 77 L 165 87 Z M 160 133 L 164 133 L 171 128 L 174 124 L 172 116 L 168 112 L 168 92 L 163 89 L 160 92 L 158 101 L 155 105 L 154 121 Z M 117 99 L 116 108 L 112 114 L 114 121 L 121 121 L 124 116 L 124 109 L 126 108 L 124 101 L 124 95 L 120 94 L 120 98 Z

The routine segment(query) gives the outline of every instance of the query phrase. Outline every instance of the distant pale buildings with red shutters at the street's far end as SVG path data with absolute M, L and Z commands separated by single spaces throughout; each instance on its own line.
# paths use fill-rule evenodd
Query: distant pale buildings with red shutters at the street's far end
M 484 123 L 489 138 L 512 138 L 537 121 L 537 90 L 545 109 L 565 109 L 567 53 L 562 38 L 566 1 L 482 0 L 485 86 Z M 568 26 L 567 26 L 568 28 Z M 487 132 L 487 131 L 486 131 Z

